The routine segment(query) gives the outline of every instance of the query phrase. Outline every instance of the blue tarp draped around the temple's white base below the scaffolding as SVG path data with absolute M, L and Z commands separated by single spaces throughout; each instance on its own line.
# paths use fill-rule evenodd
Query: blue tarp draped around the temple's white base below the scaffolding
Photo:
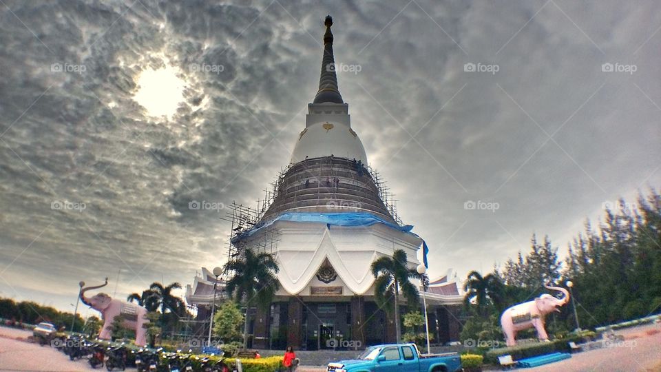
M 243 234 L 236 236 L 232 242 L 241 240 L 244 238 L 249 238 L 256 232 L 261 229 L 265 229 L 273 225 L 276 221 L 290 221 L 298 223 L 325 223 L 328 227 L 330 226 L 346 226 L 346 227 L 358 227 L 358 226 L 372 226 L 377 223 L 386 225 L 392 229 L 403 231 L 408 234 L 413 234 L 411 230 L 413 229 L 412 225 L 403 225 L 399 226 L 395 223 L 391 223 L 384 218 L 375 216 L 373 214 L 364 213 L 364 212 L 351 212 L 351 213 L 313 213 L 313 212 L 287 212 L 273 218 L 271 220 L 265 221 L 264 223 L 258 223 L 252 229 L 245 231 Z M 419 236 L 417 236 L 419 238 Z M 429 251 L 427 243 L 422 242 L 423 244 L 423 262 L 425 267 L 428 267 L 427 264 L 427 252 Z

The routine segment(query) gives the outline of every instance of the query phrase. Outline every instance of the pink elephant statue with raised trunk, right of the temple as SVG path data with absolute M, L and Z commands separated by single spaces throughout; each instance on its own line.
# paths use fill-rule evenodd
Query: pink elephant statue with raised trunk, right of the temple
M 514 305 L 503 311 L 501 327 L 503 327 L 503 333 L 505 333 L 507 346 L 516 345 L 516 332 L 532 327 L 537 330 L 537 337 L 540 340 L 547 341 L 549 339 L 544 329 L 544 317 L 552 311 L 560 312 L 559 308 L 569 302 L 569 292 L 567 292 L 567 289 L 560 287 L 547 285 L 544 287 L 562 292 L 563 298 L 558 299 L 544 293 L 532 301 Z

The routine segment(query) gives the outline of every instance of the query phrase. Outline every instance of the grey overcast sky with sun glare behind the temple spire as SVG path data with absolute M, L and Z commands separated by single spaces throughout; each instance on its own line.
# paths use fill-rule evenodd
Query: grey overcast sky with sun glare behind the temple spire
M 329 13 L 352 127 L 432 277 L 533 233 L 564 255 L 661 185 L 655 1 L 3 0 L 0 296 L 71 310 L 79 280 L 125 298 L 222 265 L 225 211 L 189 203 L 254 205 L 287 165 Z

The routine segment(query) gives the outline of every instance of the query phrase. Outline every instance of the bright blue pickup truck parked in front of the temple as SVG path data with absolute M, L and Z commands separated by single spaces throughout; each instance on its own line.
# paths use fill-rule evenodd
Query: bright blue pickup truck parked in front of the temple
M 328 372 L 456 372 L 458 353 L 421 354 L 415 344 L 368 347 L 358 358 L 328 363 Z

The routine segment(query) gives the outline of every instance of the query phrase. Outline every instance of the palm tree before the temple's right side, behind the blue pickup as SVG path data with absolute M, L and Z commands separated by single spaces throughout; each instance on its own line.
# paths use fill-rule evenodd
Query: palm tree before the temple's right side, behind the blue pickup
M 372 262 L 372 275 L 375 280 L 375 300 L 379 307 L 390 312 L 390 299 L 395 298 L 395 333 L 397 342 L 400 342 L 401 331 L 399 329 L 399 291 L 403 293 L 409 306 L 419 302 L 418 289 L 410 282 L 410 279 L 419 278 L 415 269 L 409 269 L 406 265 L 406 252 L 397 249 L 390 257 L 379 257 Z

